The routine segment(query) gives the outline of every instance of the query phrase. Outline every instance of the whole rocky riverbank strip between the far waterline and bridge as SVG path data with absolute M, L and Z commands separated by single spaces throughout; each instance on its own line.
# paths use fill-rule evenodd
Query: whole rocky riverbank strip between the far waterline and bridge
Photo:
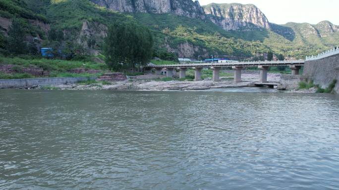
M 45 78 L 51 79 L 51 78 Z M 55 79 L 55 78 L 54 78 Z M 24 80 L 24 79 L 18 79 Z M 31 79 L 27 79 L 31 80 Z M 36 79 L 34 79 L 35 81 Z M 38 81 L 38 80 L 37 80 Z M 59 80 L 58 80 L 59 81 Z M 236 88 L 236 87 L 255 87 L 255 83 L 259 81 L 259 74 L 256 72 L 249 72 L 242 74 L 242 82 L 234 82 L 232 77 L 221 77 L 221 81 L 213 81 L 212 78 L 207 77 L 202 81 L 192 81 L 191 79 L 179 80 L 173 78 L 170 80 L 165 76 L 148 74 L 141 76 L 131 76 L 128 80 L 123 81 L 107 81 L 92 78 L 87 80 L 77 79 L 76 81 L 57 82 L 57 83 L 30 83 L 23 82 L 20 85 L 21 89 L 44 89 L 44 90 L 133 90 L 133 91 L 169 91 L 169 90 L 210 90 L 218 88 Z M 269 83 L 277 84 L 275 87 L 278 90 L 294 93 L 314 93 L 316 88 L 312 89 L 298 89 L 298 77 L 286 76 L 283 74 L 268 74 Z M 265 87 L 265 85 L 264 85 Z M 3 88 L 3 87 L 2 87 Z

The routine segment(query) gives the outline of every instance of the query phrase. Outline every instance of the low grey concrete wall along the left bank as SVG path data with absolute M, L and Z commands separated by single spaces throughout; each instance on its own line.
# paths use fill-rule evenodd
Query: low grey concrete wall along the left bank
M 96 78 L 97 77 L 90 77 L 90 79 Z M 88 80 L 88 77 L 5 79 L 0 80 L 0 88 L 20 88 L 20 87 L 30 87 L 34 85 L 76 83 L 83 80 Z

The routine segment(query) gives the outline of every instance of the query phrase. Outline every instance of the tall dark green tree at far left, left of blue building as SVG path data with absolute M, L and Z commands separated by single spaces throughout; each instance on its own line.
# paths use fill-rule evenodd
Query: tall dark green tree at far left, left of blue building
M 7 50 L 12 54 L 24 54 L 27 51 L 25 29 L 19 19 L 14 18 L 8 28 Z

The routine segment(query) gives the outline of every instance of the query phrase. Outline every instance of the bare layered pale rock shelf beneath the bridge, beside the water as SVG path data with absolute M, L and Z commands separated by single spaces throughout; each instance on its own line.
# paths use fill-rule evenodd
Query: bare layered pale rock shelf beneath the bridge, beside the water
M 242 74 L 242 82 L 235 83 L 233 79 L 221 77 L 221 81 L 215 82 L 211 78 L 202 81 L 162 81 L 164 76 L 143 75 L 135 76 L 125 81 L 115 81 L 110 84 L 103 84 L 100 81 L 92 84 L 58 84 L 53 86 L 39 86 L 40 89 L 61 89 L 61 90 L 139 90 L 139 91 L 166 91 L 166 90 L 207 90 L 213 88 L 231 88 L 254 86 L 259 80 L 255 73 Z M 272 83 L 279 83 L 281 74 L 268 74 L 268 80 Z M 308 90 L 296 92 L 310 92 Z

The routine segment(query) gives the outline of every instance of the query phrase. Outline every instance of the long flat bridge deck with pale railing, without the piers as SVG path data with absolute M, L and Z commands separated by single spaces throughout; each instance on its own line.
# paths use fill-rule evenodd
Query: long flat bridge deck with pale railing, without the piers
M 148 65 L 144 68 L 192 68 L 192 67 L 257 67 L 257 66 L 289 66 L 304 65 L 305 60 L 284 60 L 284 61 L 253 61 L 253 62 L 229 62 L 229 63 L 185 63 L 174 65 Z

